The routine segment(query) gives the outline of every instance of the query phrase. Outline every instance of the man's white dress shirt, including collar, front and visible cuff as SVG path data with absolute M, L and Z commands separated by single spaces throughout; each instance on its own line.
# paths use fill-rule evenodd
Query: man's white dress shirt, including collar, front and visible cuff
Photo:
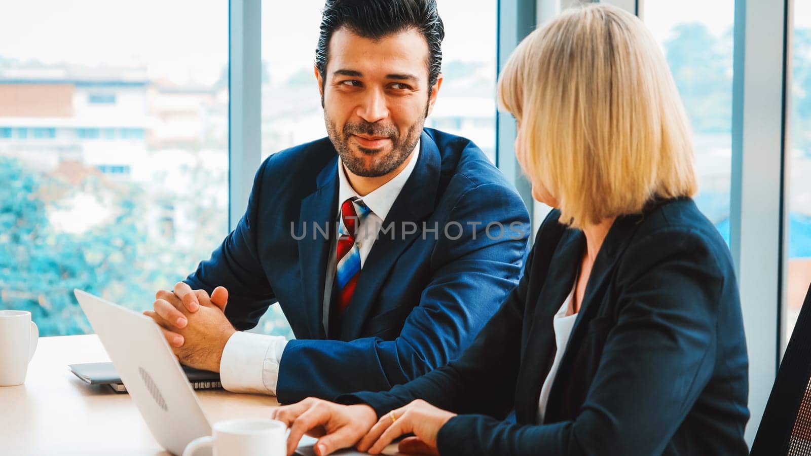
M 366 261 L 371 246 L 375 243 L 377 232 L 384 220 L 388 217 L 388 211 L 392 209 L 394 200 L 400 195 L 400 191 L 405 186 L 414 166 L 417 165 L 419 157 L 419 141 L 411 153 L 409 163 L 399 174 L 387 183 L 384 183 L 375 191 L 371 191 L 367 196 L 359 196 L 357 191 L 350 185 L 346 178 L 343 161 L 338 160 L 338 207 L 337 213 L 341 213 L 341 204 L 351 197 L 363 200 L 363 203 L 371 209 L 371 213 L 363 219 L 363 223 L 358 224 L 355 232 L 355 242 L 358 243 L 360 253 L 360 265 Z M 355 201 L 355 210 L 358 210 L 358 201 Z M 336 225 L 333 225 L 336 226 Z M 336 226 L 337 227 L 337 226 Z M 329 258 L 327 260 L 327 275 L 324 283 L 324 331 L 328 332 L 329 322 L 329 300 L 332 296 L 333 282 L 335 280 L 335 263 L 337 246 L 337 230 L 333 232 L 331 238 Z M 279 364 L 281 355 L 285 351 L 287 340 L 283 336 L 269 336 L 265 334 L 246 333 L 238 331 L 228 339 L 225 349 L 222 351 L 220 361 L 220 381 L 222 387 L 236 393 L 264 393 L 276 394 L 276 386 L 279 379 Z

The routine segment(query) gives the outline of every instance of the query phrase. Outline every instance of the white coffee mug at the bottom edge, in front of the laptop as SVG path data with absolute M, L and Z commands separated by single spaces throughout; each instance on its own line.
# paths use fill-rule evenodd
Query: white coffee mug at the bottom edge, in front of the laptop
M 285 456 L 287 427 L 281 421 L 264 418 L 229 419 L 214 424 L 213 436 L 189 442 L 183 456 L 200 448 L 212 448 L 213 456 Z

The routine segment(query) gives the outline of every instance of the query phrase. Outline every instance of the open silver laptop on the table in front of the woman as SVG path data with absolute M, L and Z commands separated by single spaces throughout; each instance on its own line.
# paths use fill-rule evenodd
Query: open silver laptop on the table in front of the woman
M 161 329 L 148 316 L 73 290 L 152 435 L 169 453 L 211 435 L 211 424 Z M 304 437 L 297 454 L 315 454 Z M 363 454 L 343 450 L 336 454 Z

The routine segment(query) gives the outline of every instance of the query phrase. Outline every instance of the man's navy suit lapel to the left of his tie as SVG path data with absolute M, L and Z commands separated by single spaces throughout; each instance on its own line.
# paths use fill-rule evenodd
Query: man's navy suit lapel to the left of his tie
M 307 235 L 298 240 L 298 261 L 302 270 L 304 305 L 307 308 L 307 328 L 311 338 L 326 338 L 324 333 L 324 286 L 327 275 L 329 247 L 335 236 L 338 199 L 338 156 L 335 155 L 318 174 L 318 189 L 302 200 L 298 233 L 307 230 Z M 324 236 L 315 229 L 326 230 Z

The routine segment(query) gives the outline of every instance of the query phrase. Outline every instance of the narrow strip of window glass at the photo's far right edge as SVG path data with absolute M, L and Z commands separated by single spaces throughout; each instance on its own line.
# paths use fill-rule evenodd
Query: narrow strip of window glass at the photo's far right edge
M 790 141 L 787 151 L 788 246 L 786 333 L 792 334 L 811 283 L 811 0 L 794 3 Z

